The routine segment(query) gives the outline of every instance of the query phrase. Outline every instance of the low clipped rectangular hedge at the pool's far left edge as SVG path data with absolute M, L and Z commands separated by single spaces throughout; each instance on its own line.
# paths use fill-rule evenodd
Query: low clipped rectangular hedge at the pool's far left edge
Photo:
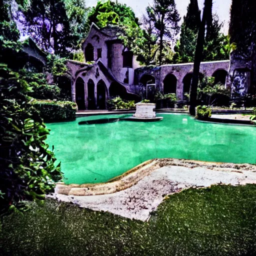
M 76 104 L 74 102 L 35 99 L 31 104 L 39 111 L 45 122 L 75 119 Z

